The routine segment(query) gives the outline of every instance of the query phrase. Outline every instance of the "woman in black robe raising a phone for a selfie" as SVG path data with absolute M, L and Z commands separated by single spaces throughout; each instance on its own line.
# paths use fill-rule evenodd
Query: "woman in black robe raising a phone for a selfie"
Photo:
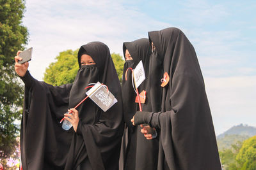
M 23 169 L 118 169 L 122 96 L 109 48 L 88 43 L 81 46 L 77 58 L 74 83 L 54 87 L 35 80 L 27 71 L 28 62 L 18 64 L 19 52 L 15 57 L 15 71 L 25 83 L 20 133 Z M 97 81 L 108 87 L 117 103 L 104 112 L 88 98 L 75 110 L 86 97 L 88 89 L 84 89 Z M 65 131 L 60 120 L 67 110 L 65 120 L 72 128 Z

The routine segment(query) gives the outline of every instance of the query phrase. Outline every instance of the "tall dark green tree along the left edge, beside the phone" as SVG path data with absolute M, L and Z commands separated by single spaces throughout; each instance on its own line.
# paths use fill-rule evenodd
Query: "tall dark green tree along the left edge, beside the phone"
M 23 87 L 14 70 L 14 57 L 28 42 L 22 25 L 23 0 L 0 0 L 0 159 L 12 155 L 17 146 Z

